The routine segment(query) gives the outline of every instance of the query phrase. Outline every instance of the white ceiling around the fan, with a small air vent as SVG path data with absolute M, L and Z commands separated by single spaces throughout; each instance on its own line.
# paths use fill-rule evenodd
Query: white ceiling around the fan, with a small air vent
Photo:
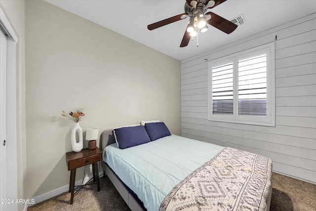
M 243 14 L 246 24 L 230 35 L 209 26 L 207 32 L 199 34 L 198 47 L 195 39 L 180 48 L 188 18 L 153 31 L 147 25 L 184 13 L 186 0 L 45 1 L 178 60 L 316 12 L 316 0 L 227 0 L 209 11 L 228 20 Z

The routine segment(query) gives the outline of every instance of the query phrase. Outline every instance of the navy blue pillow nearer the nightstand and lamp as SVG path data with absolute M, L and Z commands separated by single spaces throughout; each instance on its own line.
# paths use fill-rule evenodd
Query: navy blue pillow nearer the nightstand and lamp
M 119 149 L 137 146 L 150 142 L 144 126 L 120 127 L 114 129 Z

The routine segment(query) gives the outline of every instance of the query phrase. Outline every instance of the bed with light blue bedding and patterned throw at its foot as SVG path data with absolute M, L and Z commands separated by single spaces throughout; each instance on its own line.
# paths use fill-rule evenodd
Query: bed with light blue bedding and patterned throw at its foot
M 101 164 L 132 211 L 269 211 L 269 158 L 173 134 L 120 149 L 113 131 Z

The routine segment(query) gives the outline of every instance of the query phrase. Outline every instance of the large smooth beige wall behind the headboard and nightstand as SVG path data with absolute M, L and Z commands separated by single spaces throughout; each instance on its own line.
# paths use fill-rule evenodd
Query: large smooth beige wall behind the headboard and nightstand
M 83 131 L 160 119 L 180 135 L 180 61 L 47 2 L 26 1 L 27 198 L 68 185 L 73 123 L 61 112 L 81 107 Z M 83 168 L 76 180 L 82 176 Z

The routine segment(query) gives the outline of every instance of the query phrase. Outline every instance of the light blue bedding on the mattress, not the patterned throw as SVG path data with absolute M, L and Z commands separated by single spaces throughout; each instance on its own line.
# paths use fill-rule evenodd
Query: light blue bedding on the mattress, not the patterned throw
M 135 147 L 104 149 L 103 161 L 118 175 L 148 211 L 158 211 L 169 192 L 225 147 L 170 135 Z

